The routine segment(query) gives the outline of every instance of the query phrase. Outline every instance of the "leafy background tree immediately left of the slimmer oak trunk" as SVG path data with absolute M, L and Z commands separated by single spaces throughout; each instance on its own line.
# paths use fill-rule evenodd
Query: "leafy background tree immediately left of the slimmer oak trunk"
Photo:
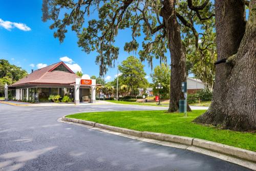
M 156 66 L 154 72 L 150 74 L 152 81 L 154 83 L 153 93 L 158 94 L 159 90 L 156 89 L 158 83 L 161 83 L 163 89 L 160 90 L 161 95 L 167 97 L 170 92 L 170 69 L 168 66 L 162 63 L 160 66 Z

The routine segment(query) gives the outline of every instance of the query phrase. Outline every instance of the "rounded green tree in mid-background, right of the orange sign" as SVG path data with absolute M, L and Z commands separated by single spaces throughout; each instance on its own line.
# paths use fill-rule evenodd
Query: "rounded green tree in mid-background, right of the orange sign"
M 144 65 L 136 57 L 127 57 L 118 66 L 118 69 L 122 73 L 119 76 L 120 82 L 126 84 L 131 89 L 131 95 L 134 95 L 136 89 L 147 87 L 148 82 L 145 78 Z

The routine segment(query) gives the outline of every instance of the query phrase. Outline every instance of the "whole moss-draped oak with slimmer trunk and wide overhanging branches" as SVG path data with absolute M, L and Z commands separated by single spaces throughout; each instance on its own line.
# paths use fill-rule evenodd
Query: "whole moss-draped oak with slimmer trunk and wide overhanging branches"
M 60 42 L 68 32 L 67 26 L 71 26 L 77 34 L 78 46 L 86 53 L 98 53 L 95 62 L 99 65 L 100 75 L 104 75 L 108 67 L 113 67 L 118 58 L 119 47 L 115 46 L 115 37 L 119 29 L 132 30 L 131 39 L 124 45 L 127 52 L 138 50 L 136 39 L 144 36 L 139 55 L 142 61 L 148 61 L 152 69 L 153 58 L 166 62 L 164 54 L 169 49 L 172 54 L 172 89 L 168 111 L 174 112 L 178 111 L 179 99 L 183 97 L 181 82 L 186 80 L 181 27 L 186 28 L 185 34 L 193 33 L 198 48 L 195 25 L 204 25 L 207 19 L 214 16 L 211 6 L 209 0 L 44 0 L 42 20 L 53 20 L 50 29 L 57 29 L 54 37 Z M 84 16 L 92 11 L 98 12 L 98 18 L 89 20 L 84 28 Z

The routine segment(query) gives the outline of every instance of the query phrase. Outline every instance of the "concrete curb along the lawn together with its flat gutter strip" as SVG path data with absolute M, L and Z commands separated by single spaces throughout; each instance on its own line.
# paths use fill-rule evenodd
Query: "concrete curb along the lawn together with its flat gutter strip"
M 202 140 L 198 138 L 124 129 L 122 127 L 106 125 L 106 124 L 97 123 L 93 121 L 66 118 L 66 116 L 63 116 L 62 118 L 60 118 L 60 120 L 63 122 L 69 122 L 69 123 L 73 122 L 77 124 L 88 125 L 90 126 L 89 128 L 93 130 L 98 130 L 98 131 L 108 130 L 103 132 L 107 132 L 111 134 L 121 133 L 121 134 L 129 135 L 129 136 L 132 136 L 132 139 L 137 139 L 140 141 L 157 143 L 160 145 L 164 145 L 165 142 L 175 143 L 177 145 L 174 145 L 174 147 L 188 149 L 190 151 L 206 154 L 208 156 L 220 158 L 222 160 L 226 160 L 226 161 L 256 170 L 255 169 L 256 168 L 256 152 L 249 151 L 247 149 L 238 148 L 238 147 L 225 145 L 217 142 L 212 142 L 208 140 Z M 119 134 L 116 134 L 116 135 L 119 135 Z M 131 138 L 129 136 L 126 136 L 126 137 Z M 134 137 L 137 137 L 137 138 L 134 138 Z M 165 146 L 169 146 L 169 145 L 165 145 Z M 223 157 L 223 155 L 225 157 Z M 230 159 L 229 157 L 231 157 L 232 159 Z

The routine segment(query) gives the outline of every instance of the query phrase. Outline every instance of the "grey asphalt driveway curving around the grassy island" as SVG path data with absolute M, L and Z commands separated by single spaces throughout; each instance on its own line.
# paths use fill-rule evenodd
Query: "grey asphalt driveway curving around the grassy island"
M 248 170 L 199 153 L 60 123 L 90 111 L 154 106 L 11 106 L 0 103 L 0 170 Z

